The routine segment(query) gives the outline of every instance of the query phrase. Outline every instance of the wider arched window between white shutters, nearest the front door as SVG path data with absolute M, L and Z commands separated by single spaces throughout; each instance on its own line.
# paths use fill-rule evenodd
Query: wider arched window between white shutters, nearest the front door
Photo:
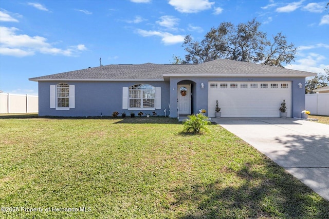
M 155 87 L 148 84 L 138 84 L 129 87 L 129 108 L 154 109 Z

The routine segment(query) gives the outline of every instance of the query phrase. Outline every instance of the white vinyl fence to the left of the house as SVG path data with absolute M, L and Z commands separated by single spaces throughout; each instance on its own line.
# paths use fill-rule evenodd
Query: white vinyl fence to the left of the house
M 0 93 L 0 113 L 29 113 L 38 110 L 38 96 Z

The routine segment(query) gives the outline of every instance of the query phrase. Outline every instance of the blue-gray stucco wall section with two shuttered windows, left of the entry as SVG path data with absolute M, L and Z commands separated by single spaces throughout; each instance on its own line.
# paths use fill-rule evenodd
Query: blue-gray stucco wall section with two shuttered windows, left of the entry
M 50 108 L 50 85 L 66 83 L 75 85 L 75 108 L 69 110 L 56 110 Z M 120 114 L 130 114 L 130 110 L 122 109 L 122 88 L 136 84 L 149 84 L 161 87 L 161 109 L 156 110 L 134 110 L 157 115 L 164 115 L 164 109 L 169 111 L 169 83 L 157 81 L 143 82 L 102 82 L 102 81 L 51 81 L 39 82 L 39 115 L 40 116 L 110 116 L 114 111 Z

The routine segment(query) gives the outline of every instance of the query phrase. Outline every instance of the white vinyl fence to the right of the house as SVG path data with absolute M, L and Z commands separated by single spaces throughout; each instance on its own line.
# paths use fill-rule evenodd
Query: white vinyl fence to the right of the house
M 311 115 L 329 115 L 329 93 L 306 94 L 305 109 Z

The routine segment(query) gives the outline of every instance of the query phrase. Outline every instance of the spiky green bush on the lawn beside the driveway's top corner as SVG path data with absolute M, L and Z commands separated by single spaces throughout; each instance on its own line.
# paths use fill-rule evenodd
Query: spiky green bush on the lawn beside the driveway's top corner
M 188 119 L 184 121 L 184 132 L 192 132 L 199 134 L 203 131 L 208 131 L 207 125 L 211 124 L 208 117 L 202 113 L 196 115 L 189 115 Z

